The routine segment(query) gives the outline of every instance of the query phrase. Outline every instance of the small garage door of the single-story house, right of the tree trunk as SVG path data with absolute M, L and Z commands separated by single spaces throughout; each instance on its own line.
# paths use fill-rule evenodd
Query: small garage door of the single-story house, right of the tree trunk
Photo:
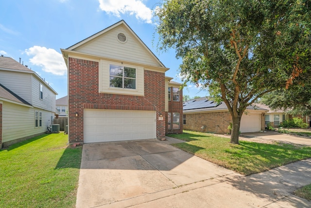
M 259 132 L 260 129 L 260 114 L 248 113 L 242 115 L 240 132 Z

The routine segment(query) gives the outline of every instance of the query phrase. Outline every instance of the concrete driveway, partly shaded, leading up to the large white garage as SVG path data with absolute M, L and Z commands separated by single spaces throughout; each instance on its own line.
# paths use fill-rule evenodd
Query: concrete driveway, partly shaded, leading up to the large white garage
M 230 174 L 236 173 L 156 139 L 84 144 L 76 207 L 156 199 L 155 193 Z

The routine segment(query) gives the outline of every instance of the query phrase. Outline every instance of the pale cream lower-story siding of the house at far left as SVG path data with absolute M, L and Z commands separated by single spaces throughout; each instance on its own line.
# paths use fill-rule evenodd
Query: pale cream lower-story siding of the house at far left
M 42 128 L 35 128 L 35 111 L 42 113 Z M 3 102 L 2 142 L 46 132 L 46 127 L 51 124 L 51 116 L 54 116 L 51 112 Z

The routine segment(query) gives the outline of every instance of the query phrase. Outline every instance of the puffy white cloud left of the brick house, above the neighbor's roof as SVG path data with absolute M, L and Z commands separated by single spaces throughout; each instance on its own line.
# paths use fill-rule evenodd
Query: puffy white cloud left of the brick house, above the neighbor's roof
M 42 70 L 54 75 L 63 76 L 67 73 L 67 67 L 63 56 L 52 48 L 34 46 L 25 50 L 30 58 L 30 62 L 36 66 L 42 67 Z

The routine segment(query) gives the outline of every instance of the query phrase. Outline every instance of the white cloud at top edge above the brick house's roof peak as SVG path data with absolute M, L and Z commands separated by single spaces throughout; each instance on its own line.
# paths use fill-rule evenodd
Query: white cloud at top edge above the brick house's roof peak
M 120 17 L 120 14 L 135 15 L 147 23 L 152 23 L 152 10 L 141 0 L 98 0 L 100 8 L 106 13 Z

